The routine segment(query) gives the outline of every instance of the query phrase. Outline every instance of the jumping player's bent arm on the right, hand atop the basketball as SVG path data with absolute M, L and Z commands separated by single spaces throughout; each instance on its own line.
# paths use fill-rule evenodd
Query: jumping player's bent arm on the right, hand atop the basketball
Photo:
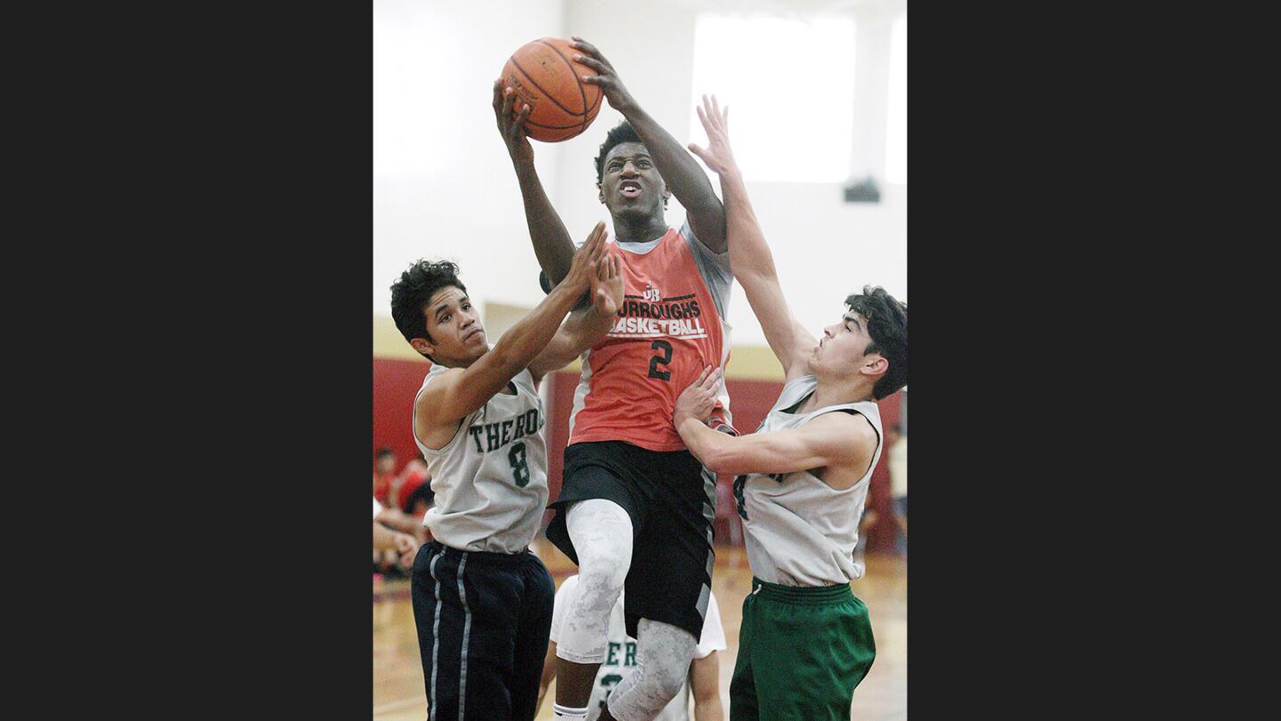
M 635 101 L 628 89 L 619 78 L 617 71 L 610 64 L 605 55 L 591 42 L 574 36 L 571 42 L 579 55 L 574 59 L 596 71 L 594 76 L 585 76 L 583 82 L 600 86 L 605 92 L 610 106 L 623 113 L 623 117 L 632 123 L 640 142 L 653 159 L 658 174 L 671 190 L 676 200 L 689 212 L 689 227 L 694 236 L 714 253 L 725 251 L 725 209 L 712 190 L 707 174 L 698 167 L 698 162 L 680 146 L 680 142 L 665 131 L 643 108 Z M 615 228 L 616 230 L 616 228 Z

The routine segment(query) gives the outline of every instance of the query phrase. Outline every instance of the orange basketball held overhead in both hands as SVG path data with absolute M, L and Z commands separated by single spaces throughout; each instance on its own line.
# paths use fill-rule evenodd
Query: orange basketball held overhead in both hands
M 596 71 L 574 62 L 569 40 L 543 37 L 526 42 L 502 67 L 505 86 L 516 91 L 512 113 L 529 104 L 525 132 L 534 140 L 560 142 L 587 130 L 601 110 L 601 89 L 582 81 Z

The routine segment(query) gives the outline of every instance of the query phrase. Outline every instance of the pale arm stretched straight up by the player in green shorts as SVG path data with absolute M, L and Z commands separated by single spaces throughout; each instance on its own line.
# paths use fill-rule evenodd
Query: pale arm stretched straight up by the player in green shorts
M 703 159 L 720 176 L 721 195 L 725 196 L 725 235 L 729 241 L 729 264 L 734 277 L 747 294 L 752 312 L 761 322 L 765 340 L 783 364 L 783 372 L 792 377 L 808 372 L 810 352 L 815 337 L 796 321 L 788 305 L 779 275 L 774 267 L 774 254 L 761 232 L 761 223 L 747 196 L 743 173 L 734 160 L 729 144 L 729 108 L 722 112 L 716 96 L 703 96 L 703 106 L 697 108 L 698 119 L 707 131 L 707 148 L 689 144 L 689 150 Z

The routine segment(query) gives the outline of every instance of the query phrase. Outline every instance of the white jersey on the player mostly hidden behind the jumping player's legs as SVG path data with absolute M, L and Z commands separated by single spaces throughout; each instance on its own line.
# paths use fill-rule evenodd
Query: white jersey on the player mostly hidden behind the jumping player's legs
M 556 591 L 556 607 L 552 611 L 551 640 L 560 643 L 561 620 L 565 617 L 565 608 L 570 600 L 578 595 L 578 576 L 565 579 Z M 725 629 L 721 626 L 720 608 L 716 607 L 716 594 L 707 597 L 707 618 L 703 620 L 703 632 L 694 647 L 694 658 L 706 658 L 714 650 L 725 650 Z M 619 594 L 617 603 L 610 611 L 610 641 L 605 648 L 605 661 L 601 670 L 596 672 L 596 684 L 592 686 L 592 698 L 587 702 L 587 721 L 596 721 L 605 708 L 605 699 L 619 685 L 623 679 L 637 666 L 637 640 L 628 635 L 626 622 L 623 617 L 623 594 Z M 655 716 L 655 721 L 690 721 L 693 716 L 689 695 L 689 679 L 680 686 L 680 691 L 671 702 Z

